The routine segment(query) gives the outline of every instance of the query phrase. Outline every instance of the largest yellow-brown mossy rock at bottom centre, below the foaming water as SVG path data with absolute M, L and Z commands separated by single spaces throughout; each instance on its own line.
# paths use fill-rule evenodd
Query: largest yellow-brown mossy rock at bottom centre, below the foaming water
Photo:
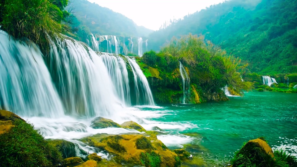
M 90 138 L 89 145 L 116 155 L 118 163 L 126 162 L 142 166 L 174 167 L 180 165 L 179 157 L 170 151 L 155 135 L 147 134 L 110 135 L 105 138 Z

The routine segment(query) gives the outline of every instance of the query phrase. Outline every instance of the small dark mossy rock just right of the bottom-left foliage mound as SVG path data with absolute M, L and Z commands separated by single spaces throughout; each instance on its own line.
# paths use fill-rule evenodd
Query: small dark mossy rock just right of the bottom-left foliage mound
M 75 144 L 66 140 L 56 139 L 48 140 L 49 143 L 52 143 L 55 147 L 59 147 L 59 151 L 62 152 L 63 158 L 69 158 L 75 156 Z

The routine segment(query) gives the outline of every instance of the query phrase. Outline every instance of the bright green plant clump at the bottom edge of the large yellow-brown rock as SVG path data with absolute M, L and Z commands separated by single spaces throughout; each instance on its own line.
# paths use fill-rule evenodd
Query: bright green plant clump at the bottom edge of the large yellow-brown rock
M 156 152 L 147 152 L 140 154 L 140 161 L 145 167 L 158 167 L 161 165 L 161 157 Z

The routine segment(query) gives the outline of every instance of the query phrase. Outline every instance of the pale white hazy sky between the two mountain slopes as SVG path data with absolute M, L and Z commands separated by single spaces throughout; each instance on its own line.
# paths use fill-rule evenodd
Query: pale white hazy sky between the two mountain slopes
M 183 18 L 223 0 L 88 0 L 132 19 L 137 25 L 158 30 L 167 20 Z

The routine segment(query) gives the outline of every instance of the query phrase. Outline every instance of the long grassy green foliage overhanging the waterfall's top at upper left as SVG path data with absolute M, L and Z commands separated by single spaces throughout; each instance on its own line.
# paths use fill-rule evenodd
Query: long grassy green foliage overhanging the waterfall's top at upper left
M 1 29 L 14 39 L 29 39 L 42 50 L 48 49 L 49 36 L 62 32 L 61 21 L 67 0 L 3 0 L 0 2 Z M 58 5 L 58 6 L 57 6 Z

